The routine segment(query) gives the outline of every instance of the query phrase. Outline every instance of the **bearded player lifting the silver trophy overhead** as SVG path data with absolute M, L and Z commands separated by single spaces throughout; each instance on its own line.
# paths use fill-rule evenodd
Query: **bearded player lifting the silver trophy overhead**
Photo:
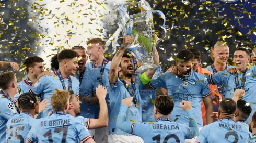
M 155 38 L 156 39 L 156 38 Z M 150 70 L 136 76 L 136 81 L 132 80 L 134 73 L 133 62 L 129 56 L 123 55 L 126 47 L 132 42 L 131 36 L 125 36 L 123 39 L 123 47 L 115 54 L 109 73 L 109 96 L 110 96 L 110 122 L 108 137 L 109 142 L 143 142 L 138 136 L 121 131 L 116 127 L 118 113 L 121 108 L 122 99 L 125 97 L 133 97 L 133 106 L 127 111 L 127 120 L 141 122 L 142 107 L 141 96 L 139 95 L 142 87 L 147 84 L 153 77 L 156 70 Z M 153 60 L 155 64 L 159 64 L 159 56 L 156 47 L 153 46 Z

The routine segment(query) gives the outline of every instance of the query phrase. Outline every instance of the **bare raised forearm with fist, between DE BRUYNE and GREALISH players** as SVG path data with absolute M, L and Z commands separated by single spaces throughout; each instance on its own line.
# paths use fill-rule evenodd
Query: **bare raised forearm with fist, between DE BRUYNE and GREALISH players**
M 107 95 L 107 89 L 104 86 L 99 85 L 98 88 L 96 88 L 96 94 L 98 96 L 98 101 L 100 105 L 99 118 L 90 119 L 90 126 L 88 129 L 106 127 L 109 123 L 108 107 L 105 100 Z

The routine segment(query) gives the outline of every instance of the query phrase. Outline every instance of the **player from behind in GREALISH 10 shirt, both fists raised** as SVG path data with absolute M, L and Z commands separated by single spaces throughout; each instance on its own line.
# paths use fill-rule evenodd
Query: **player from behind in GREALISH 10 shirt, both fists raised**
M 181 101 L 180 106 L 189 116 L 189 126 L 171 122 L 169 116 L 174 107 L 174 101 L 170 96 L 159 95 L 155 98 L 154 116 L 155 122 L 139 123 L 126 120 L 127 109 L 132 107 L 132 99 L 122 100 L 117 127 L 124 132 L 141 137 L 144 142 L 184 142 L 197 136 L 199 130 L 194 114 L 191 110 L 190 101 Z

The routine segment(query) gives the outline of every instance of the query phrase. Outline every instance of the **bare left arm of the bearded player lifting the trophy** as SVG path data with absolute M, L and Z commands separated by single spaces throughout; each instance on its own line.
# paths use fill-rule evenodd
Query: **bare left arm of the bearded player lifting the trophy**
M 109 70 L 109 82 L 111 84 L 114 84 L 118 80 L 118 66 L 121 63 L 124 51 L 126 47 L 133 41 L 133 38 L 131 36 L 125 36 L 123 38 L 123 47 L 120 47 L 119 51 L 114 55 L 111 67 Z

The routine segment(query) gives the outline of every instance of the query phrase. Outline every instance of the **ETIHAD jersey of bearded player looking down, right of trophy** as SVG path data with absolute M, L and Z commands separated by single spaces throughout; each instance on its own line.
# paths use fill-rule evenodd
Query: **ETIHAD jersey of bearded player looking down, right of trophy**
M 177 75 L 166 72 L 156 80 L 149 82 L 153 89 L 165 88 L 168 95 L 174 100 L 174 108 L 170 120 L 177 123 L 189 123 L 187 113 L 180 107 L 182 100 L 191 102 L 192 111 L 199 127 L 203 127 L 201 102 L 211 94 L 208 81 L 204 75 L 191 71 L 188 80 L 181 80 Z

